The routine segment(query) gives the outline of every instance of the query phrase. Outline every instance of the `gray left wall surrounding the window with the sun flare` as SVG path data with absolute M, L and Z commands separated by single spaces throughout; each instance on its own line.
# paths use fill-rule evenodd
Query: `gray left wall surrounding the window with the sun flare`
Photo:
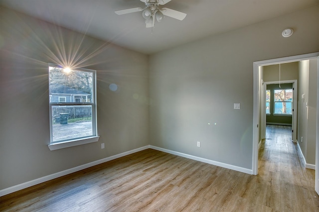
M 0 20 L 0 189 L 149 144 L 148 56 L 5 8 Z M 97 70 L 100 140 L 50 151 L 48 63 L 63 46 Z

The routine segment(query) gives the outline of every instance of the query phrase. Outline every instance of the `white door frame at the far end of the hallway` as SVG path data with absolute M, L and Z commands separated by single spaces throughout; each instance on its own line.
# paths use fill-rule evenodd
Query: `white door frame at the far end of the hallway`
M 265 82 L 263 81 L 263 89 L 262 89 L 262 100 L 261 100 L 261 117 L 262 117 L 262 120 L 261 120 L 261 135 L 262 135 L 262 139 L 265 139 L 263 138 L 263 135 L 266 135 L 266 108 L 265 108 L 265 103 L 266 103 L 266 89 L 267 89 L 267 85 L 269 84 L 279 84 L 279 83 L 282 83 L 282 84 L 286 84 L 286 83 L 293 83 L 293 88 L 294 88 L 294 91 L 293 91 L 293 105 L 292 105 L 292 109 L 293 109 L 293 112 L 292 112 L 292 130 L 293 130 L 293 136 L 292 136 L 292 141 L 294 141 L 295 143 L 297 143 L 297 93 L 298 93 L 298 80 L 297 79 L 293 79 L 293 80 L 283 80 L 283 81 L 269 81 L 269 82 Z

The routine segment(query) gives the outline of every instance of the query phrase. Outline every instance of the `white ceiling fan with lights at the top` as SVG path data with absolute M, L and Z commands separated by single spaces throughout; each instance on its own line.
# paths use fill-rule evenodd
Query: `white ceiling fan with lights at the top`
M 155 19 L 160 22 L 164 15 L 183 20 L 186 17 L 186 14 L 183 12 L 179 12 L 173 9 L 169 9 L 166 7 L 160 8 L 159 5 L 164 5 L 165 3 L 171 0 L 141 0 L 145 3 L 146 7 L 135 7 L 130 9 L 122 9 L 115 11 L 118 15 L 123 15 L 132 12 L 142 11 L 142 16 L 145 18 L 146 27 L 154 27 Z

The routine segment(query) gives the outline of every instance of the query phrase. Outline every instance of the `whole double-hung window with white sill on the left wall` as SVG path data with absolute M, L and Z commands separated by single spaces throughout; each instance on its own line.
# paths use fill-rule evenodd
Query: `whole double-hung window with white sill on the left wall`
M 98 141 L 95 75 L 49 65 L 51 150 Z

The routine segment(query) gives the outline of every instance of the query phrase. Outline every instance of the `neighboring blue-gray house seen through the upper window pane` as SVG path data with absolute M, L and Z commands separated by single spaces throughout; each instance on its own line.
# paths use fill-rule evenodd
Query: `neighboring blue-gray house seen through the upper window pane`
M 90 102 L 91 94 L 62 84 L 56 84 L 52 87 L 50 90 L 50 102 Z

